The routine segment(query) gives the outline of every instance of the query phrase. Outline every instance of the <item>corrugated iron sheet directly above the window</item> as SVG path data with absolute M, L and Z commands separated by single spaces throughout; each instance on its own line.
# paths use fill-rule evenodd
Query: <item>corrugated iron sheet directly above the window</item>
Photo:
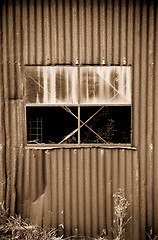
M 133 7 L 123 0 L 23 1 L 24 63 L 132 64 Z

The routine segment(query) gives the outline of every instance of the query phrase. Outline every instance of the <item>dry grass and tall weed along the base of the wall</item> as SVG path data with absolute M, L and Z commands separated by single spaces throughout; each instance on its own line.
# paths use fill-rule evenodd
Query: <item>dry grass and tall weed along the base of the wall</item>
M 127 207 L 129 205 L 127 199 L 124 197 L 124 192 L 122 189 L 114 197 L 114 210 L 117 219 L 117 237 L 115 240 L 125 239 L 125 227 L 129 218 L 125 222 L 125 217 L 127 215 Z M 60 230 L 61 229 L 61 230 Z M 103 229 L 103 233 L 98 238 L 91 237 L 81 237 L 81 236 L 70 236 L 68 238 L 63 238 L 61 235 L 62 227 L 59 229 L 50 228 L 40 228 L 34 225 L 27 224 L 20 216 L 10 216 L 8 211 L 4 208 L 4 204 L 0 203 L 0 239 L 23 239 L 23 240 L 68 240 L 68 239 L 80 239 L 80 240 L 108 240 L 107 232 Z M 156 238 L 150 238 L 156 239 Z

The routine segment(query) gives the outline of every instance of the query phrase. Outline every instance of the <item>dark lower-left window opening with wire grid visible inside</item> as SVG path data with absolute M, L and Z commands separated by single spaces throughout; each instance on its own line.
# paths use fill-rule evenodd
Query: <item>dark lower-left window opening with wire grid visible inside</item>
M 28 143 L 78 143 L 78 119 L 70 112 L 78 116 L 77 107 L 27 107 Z M 42 119 L 42 125 L 32 128 L 31 119 Z

